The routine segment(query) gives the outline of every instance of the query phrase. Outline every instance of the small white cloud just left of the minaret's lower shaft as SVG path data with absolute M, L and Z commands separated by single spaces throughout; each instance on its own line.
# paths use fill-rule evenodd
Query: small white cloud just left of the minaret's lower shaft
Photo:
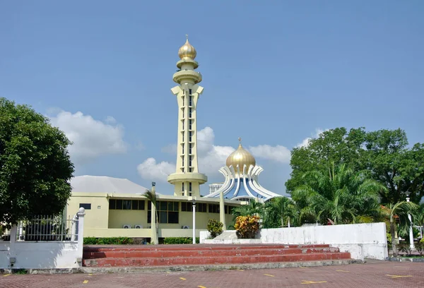
M 155 158 L 148 158 L 137 166 L 137 171 L 143 179 L 166 181 L 167 176 L 175 172 L 175 164 L 165 161 L 156 163 Z

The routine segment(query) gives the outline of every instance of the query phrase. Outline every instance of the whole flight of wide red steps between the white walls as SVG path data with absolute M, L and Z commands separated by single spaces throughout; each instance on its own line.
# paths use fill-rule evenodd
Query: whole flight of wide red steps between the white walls
M 329 245 L 143 245 L 84 246 L 83 266 L 158 267 L 351 260 Z

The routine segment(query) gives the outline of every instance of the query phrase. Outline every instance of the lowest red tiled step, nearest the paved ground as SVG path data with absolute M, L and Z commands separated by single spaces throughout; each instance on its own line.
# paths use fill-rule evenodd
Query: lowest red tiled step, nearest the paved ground
M 309 253 L 276 256 L 240 256 L 240 257 L 177 257 L 177 258 L 100 258 L 86 259 L 87 267 L 110 266 L 160 266 L 160 265 L 210 265 L 210 264 L 240 264 L 240 263 L 270 263 L 313 260 L 349 259 L 350 253 Z

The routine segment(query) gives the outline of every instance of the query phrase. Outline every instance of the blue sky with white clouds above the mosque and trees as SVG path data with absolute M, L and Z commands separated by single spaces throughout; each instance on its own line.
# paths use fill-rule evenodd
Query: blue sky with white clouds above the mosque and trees
M 283 193 L 289 151 L 320 129 L 400 127 L 424 142 L 423 15 L 420 0 L 2 0 L 0 97 L 69 135 L 76 175 L 156 181 L 170 194 L 170 88 L 189 34 L 204 76 L 201 172 L 223 181 L 240 136 L 261 185 Z

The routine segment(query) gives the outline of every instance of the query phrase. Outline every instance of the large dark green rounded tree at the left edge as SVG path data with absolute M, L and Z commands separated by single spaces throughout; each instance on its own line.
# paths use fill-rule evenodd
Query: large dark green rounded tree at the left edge
M 0 222 L 63 211 L 71 196 L 70 144 L 47 117 L 0 98 Z

